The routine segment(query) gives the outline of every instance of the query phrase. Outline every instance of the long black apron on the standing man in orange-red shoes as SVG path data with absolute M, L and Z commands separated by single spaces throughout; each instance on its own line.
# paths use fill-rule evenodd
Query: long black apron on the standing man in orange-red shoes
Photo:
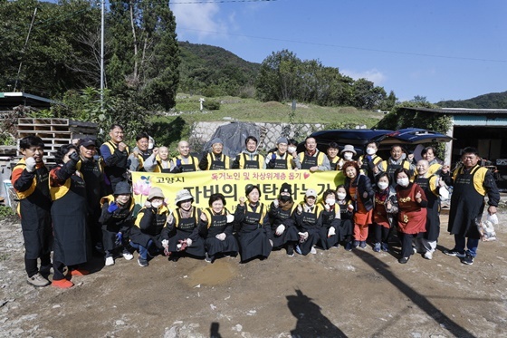
M 65 266 L 76 266 L 88 261 L 88 227 L 86 224 L 87 198 L 84 180 L 72 175 L 71 186 L 61 198 L 53 201 L 53 260 Z

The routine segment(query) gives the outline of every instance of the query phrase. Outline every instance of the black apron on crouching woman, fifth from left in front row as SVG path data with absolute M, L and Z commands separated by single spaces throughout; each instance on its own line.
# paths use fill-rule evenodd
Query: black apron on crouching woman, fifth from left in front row
M 244 207 L 244 219 L 237 233 L 243 262 L 256 256 L 268 257 L 271 253 L 272 246 L 265 228 L 269 226 L 261 224 L 263 208 L 265 208 L 263 204 L 259 204 L 255 211 L 248 205 Z

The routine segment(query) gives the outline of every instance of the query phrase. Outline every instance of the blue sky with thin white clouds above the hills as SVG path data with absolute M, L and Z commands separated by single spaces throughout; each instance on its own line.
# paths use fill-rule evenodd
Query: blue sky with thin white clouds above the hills
M 507 0 L 171 0 L 178 40 L 262 63 L 288 49 L 400 101 L 507 91 Z

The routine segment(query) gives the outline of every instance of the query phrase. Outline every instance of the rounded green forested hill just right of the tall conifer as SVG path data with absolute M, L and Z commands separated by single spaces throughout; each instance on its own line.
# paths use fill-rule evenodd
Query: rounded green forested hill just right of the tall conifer
M 249 63 L 224 48 L 179 42 L 178 92 L 240 96 L 253 92 L 259 63 Z

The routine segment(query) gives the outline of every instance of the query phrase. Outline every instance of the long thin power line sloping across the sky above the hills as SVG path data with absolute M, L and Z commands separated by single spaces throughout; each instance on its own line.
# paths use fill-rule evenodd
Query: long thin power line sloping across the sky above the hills
M 224 35 L 248 37 L 248 38 L 252 38 L 252 39 L 280 41 L 283 43 L 302 43 L 302 44 L 311 44 L 311 45 L 318 45 L 318 46 L 324 46 L 324 47 L 352 49 L 352 50 L 366 51 L 366 52 L 425 56 L 425 57 L 434 57 L 434 58 L 451 59 L 451 60 L 483 61 L 483 62 L 489 62 L 489 63 L 507 63 L 507 60 L 481 59 L 481 58 L 473 58 L 473 57 L 448 56 L 448 55 L 438 55 L 438 54 L 428 54 L 428 53 L 398 52 L 398 51 L 389 51 L 389 50 L 365 48 L 365 47 L 352 47 L 352 46 L 331 44 L 331 43 L 314 43 L 314 42 L 309 42 L 309 41 L 286 40 L 286 39 L 279 39 L 279 38 L 274 38 L 274 37 L 263 37 L 263 36 L 253 36 L 253 35 L 245 35 L 245 34 L 233 34 L 233 33 L 225 33 L 225 32 L 204 31 L 204 30 L 199 30 L 199 29 L 194 29 L 194 28 L 185 28 L 185 27 L 181 27 L 181 26 L 178 26 L 178 29 L 183 29 L 186 31 L 202 32 L 202 33 L 208 33 L 208 34 L 224 34 Z

